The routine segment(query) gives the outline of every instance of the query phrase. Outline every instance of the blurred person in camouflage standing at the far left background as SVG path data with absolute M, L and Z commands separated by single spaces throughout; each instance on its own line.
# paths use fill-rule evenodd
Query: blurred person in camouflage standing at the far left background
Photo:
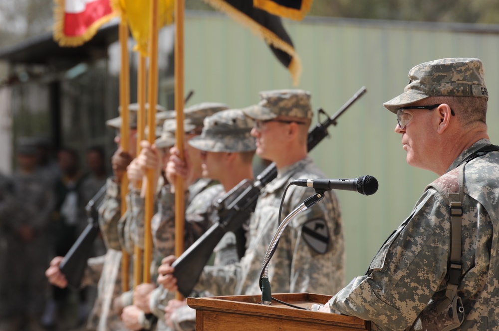
M 41 316 L 48 296 L 44 270 L 49 258 L 49 224 L 54 195 L 47 178 L 37 167 L 36 144 L 31 138 L 19 139 L 18 169 L 13 175 L 15 204 L 6 221 L 5 269 L 9 304 L 2 311 L 7 318 L 5 331 L 44 330 Z M 2 331 L 3 331 L 2 330 Z

